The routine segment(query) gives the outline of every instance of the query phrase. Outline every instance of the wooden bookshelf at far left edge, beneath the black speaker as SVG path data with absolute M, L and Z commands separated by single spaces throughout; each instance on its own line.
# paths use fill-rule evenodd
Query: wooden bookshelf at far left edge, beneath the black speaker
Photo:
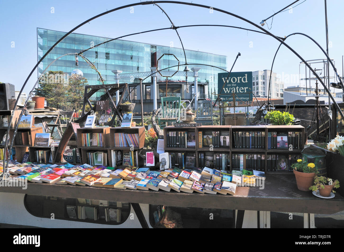
M 9 141 L 7 142 L 7 145 L 10 146 L 11 141 L 13 139 L 13 134 L 14 134 L 14 127 L 16 123 L 18 122 L 19 115 L 20 115 L 21 110 L 15 110 L 14 111 L 14 117 L 11 123 L 10 127 L 10 136 L 9 136 Z M 4 141 L 3 139 L 6 138 L 6 133 L 7 133 L 7 127 L 8 127 L 8 122 L 10 121 L 11 118 L 11 113 L 12 110 L 2 110 L 0 111 L 0 138 L 1 138 L 1 154 L 0 157 L 1 159 L 3 158 L 3 146 L 4 146 Z M 36 133 L 43 133 L 42 127 L 35 127 L 34 126 L 34 116 L 32 114 L 29 114 L 28 116 L 22 116 L 19 122 L 18 130 L 17 133 L 14 137 L 14 142 L 13 142 L 13 148 L 12 151 L 10 152 L 11 159 L 17 160 L 18 162 L 25 161 L 27 158 L 30 156 L 30 150 L 34 148 L 34 141 L 35 141 L 35 135 Z M 30 156 L 31 157 L 31 156 Z M 33 159 L 32 159 L 33 160 Z

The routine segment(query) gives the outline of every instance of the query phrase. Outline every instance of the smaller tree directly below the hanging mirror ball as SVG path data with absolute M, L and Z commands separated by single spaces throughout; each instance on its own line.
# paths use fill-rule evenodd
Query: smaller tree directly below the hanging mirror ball
M 80 80 L 69 78 L 67 93 L 70 110 L 75 109 L 75 111 L 79 111 L 80 109 L 82 109 L 86 84 L 86 78 L 82 78 Z

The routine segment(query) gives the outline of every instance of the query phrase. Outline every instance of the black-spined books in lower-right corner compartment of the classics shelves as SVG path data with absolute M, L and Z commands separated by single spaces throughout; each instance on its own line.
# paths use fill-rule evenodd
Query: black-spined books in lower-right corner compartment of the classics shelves
M 297 163 L 298 159 L 302 159 L 302 155 L 281 155 L 272 154 L 267 155 L 267 171 L 289 171 L 292 172 L 292 164 Z

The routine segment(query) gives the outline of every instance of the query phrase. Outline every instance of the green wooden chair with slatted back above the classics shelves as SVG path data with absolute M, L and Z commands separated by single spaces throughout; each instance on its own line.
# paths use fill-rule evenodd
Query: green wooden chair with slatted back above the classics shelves
M 181 97 L 161 97 L 162 117 L 158 118 L 159 126 L 161 123 L 179 122 Z

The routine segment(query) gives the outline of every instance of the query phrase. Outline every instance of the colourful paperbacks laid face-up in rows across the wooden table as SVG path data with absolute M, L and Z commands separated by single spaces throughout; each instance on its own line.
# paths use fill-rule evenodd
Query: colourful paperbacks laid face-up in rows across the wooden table
M 0 164 L 1 165 L 1 164 Z M 235 194 L 237 186 L 255 186 L 256 179 L 265 179 L 264 172 L 229 171 L 205 167 L 203 169 L 166 169 L 150 171 L 149 168 L 127 167 L 116 169 L 106 166 L 44 165 L 10 161 L 11 179 L 23 182 L 88 185 L 117 189 L 142 189 L 184 191 L 192 193 Z

